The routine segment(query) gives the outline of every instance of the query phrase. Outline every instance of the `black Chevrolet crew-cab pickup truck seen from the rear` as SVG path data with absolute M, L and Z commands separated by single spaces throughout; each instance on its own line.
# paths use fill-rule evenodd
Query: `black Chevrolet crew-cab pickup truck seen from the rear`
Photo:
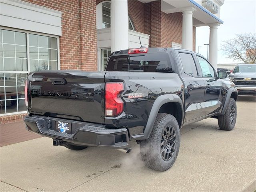
M 238 92 L 226 77 L 192 51 L 121 50 L 104 72 L 30 72 L 24 121 L 29 131 L 72 150 L 127 153 L 134 140 L 144 164 L 165 171 L 177 158 L 182 126 L 212 117 L 220 129 L 234 128 Z

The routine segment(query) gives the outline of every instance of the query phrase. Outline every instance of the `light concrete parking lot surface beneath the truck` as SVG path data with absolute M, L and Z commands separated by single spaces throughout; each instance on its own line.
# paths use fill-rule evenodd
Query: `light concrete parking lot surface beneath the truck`
M 166 172 L 146 168 L 139 145 L 129 154 L 90 147 L 72 151 L 37 138 L 0 148 L 0 191 L 98 192 L 256 190 L 256 97 L 239 96 L 236 127 L 218 129 L 208 118 L 181 130 L 174 166 Z

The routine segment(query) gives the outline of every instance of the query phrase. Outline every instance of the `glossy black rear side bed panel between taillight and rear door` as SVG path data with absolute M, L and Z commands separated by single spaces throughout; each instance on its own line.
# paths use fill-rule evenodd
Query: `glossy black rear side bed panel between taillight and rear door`
M 122 81 L 124 112 L 116 117 L 105 117 L 107 126 L 129 128 L 130 135 L 143 132 L 156 98 L 163 94 L 177 94 L 181 99 L 183 84 L 174 73 L 106 72 L 105 82 Z M 131 98 L 135 96 L 136 98 Z

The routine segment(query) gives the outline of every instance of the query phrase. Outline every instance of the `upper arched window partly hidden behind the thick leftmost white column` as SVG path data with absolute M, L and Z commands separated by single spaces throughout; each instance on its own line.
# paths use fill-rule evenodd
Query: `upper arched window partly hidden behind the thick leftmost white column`
M 111 27 L 111 1 L 100 2 L 96 6 L 97 29 Z M 134 30 L 134 24 L 128 16 L 128 29 Z

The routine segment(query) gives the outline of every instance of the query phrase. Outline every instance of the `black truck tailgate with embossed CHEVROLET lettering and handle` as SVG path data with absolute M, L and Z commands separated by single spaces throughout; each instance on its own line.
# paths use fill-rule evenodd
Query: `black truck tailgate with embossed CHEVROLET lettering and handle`
M 32 114 L 104 123 L 106 72 L 41 71 L 28 75 Z

